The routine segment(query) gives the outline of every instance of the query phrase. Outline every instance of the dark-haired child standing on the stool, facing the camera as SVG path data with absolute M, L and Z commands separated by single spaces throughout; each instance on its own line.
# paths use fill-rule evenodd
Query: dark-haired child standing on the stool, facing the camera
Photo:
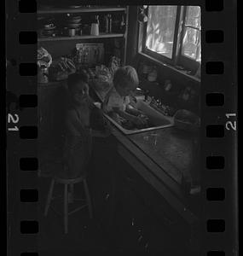
M 64 160 L 67 168 L 61 177 L 75 178 L 86 174 L 92 149 L 91 128 L 95 126 L 97 130 L 106 130 L 100 109 L 96 108 L 90 99 L 88 80 L 85 73 L 73 73 L 68 76 L 64 114 Z

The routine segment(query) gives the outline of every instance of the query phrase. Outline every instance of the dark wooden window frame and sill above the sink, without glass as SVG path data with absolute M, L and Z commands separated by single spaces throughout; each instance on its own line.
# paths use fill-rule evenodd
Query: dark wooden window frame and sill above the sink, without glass
M 139 23 L 139 29 L 141 31 L 141 34 L 139 35 L 139 41 L 142 40 L 142 44 L 138 47 L 138 53 L 148 55 L 149 57 L 152 57 L 156 61 L 162 62 L 163 64 L 169 64 L 172 67 L 180 66 L 183 67 L 185 70 L 190 70 L 192 71 L 192 73 L 196 73 L 196 71 L 200 67 L 200 62 L 195 61 L 189 56 L 182 55 L 182 40 L 185 31 L 185 20 L 188 6 L 177 5 L 176 7 L 176 24 L 173 39 L 172 57 L 168 58 L 165 55 L 158 54 L 146 48 L 145 45 L 148 22 L 146 22 L 145 24 Z M 148 15 L 148 9 L 149 5 L 148 8 L 146 9 L 146 15 Z

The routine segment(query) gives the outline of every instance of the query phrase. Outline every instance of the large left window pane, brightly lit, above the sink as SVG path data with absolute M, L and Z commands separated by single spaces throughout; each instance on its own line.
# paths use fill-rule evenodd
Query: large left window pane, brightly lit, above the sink
M 176 6 L 149 5 L 146 47 L 160 55 L 172 57 L 176 24 Z

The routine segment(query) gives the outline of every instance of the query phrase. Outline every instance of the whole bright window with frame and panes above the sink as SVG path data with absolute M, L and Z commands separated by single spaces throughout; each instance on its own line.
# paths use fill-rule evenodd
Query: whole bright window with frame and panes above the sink
M 149 5 L 142 24 L 142 52 L 195 72 L 201 61 L 199 6 Z

